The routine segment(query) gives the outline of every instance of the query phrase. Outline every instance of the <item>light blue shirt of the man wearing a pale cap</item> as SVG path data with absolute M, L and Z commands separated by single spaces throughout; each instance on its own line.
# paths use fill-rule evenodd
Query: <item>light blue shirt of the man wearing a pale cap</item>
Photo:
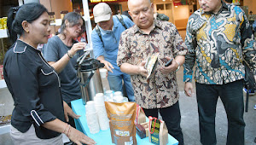
M 134 25 L 134 23 L 126 15 L 122 15 L 122 17 L 127 28 Z M 118 18 L 115 15 L 113 15 L 112 31 L 104 31 L 99 26 L 102 34 L 102 40 L 98 36 L 95 29 L 93 29 L 93 31 L 91 32 L 91 41 L 95 58 L 99 57 L 100 55 L 103 55 L 105 60 L 109 61 L 114 67 L 114 69 L 112 70 L 113 73 L 109 72 L 108 75 L 123 74 L 120 71 L 120 68 L 117 66 L 116 59 L 119 51 L 119 38 L 121 36 L 121 33 L 125 31 L 125 26 L 123 26 L 119 22 Z

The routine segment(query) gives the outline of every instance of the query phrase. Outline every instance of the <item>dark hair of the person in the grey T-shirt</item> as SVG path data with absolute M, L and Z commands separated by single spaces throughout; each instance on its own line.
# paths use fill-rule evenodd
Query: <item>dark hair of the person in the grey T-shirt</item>
M 84 19 L 83 17 L 76 13 L 76 12 L 69 12 L 67 14 L 65 14 L 62 23 L 61 23 L 61 32 L 62 34 L 64 34 L 64 30 L 66 29 L 66 24 L 65 24 L 65 20 L 67 20 L 69 22 L 69 24 L 71 24 L 72 26 L 75 26 L 77 24 L 79 24 L 79 20 L 82 19 L 83 20 L 83 25 L 81 26 L 82 32 L 85 32 L 85 25 L 84 25 Z M 65 36 L 65 34 L 64 34 Z

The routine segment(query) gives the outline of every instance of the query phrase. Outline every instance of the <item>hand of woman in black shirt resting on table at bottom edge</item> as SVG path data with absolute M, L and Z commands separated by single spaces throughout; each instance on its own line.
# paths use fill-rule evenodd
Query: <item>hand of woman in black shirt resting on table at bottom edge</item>
M 96 144 L 96 142 L 93 139 L 91 139 L 88 136 L 85 136 L 84 133 L 74 129 L 73 127 L 70 127 L 70 130 L 67 132 L 67 136 L 71 141 L 73 141 L 78 145 L 82 145 L 82 143 L 85 143 L 88 145 Z

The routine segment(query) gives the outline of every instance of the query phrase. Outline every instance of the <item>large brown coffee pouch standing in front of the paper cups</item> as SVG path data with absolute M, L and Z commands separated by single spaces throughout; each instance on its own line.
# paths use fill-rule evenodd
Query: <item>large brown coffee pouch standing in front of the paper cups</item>
M 118 145 L 137 145 L 135 102 L 105 102 L 112 142 Z

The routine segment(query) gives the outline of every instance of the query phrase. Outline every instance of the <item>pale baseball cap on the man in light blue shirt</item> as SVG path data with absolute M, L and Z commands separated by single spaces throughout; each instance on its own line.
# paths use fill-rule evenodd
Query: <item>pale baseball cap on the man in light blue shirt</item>
M 110 20 L 112 10 L 107 3 L 98 3 L 93 8 L 94 21 L 96 23 L 101 21 Z

